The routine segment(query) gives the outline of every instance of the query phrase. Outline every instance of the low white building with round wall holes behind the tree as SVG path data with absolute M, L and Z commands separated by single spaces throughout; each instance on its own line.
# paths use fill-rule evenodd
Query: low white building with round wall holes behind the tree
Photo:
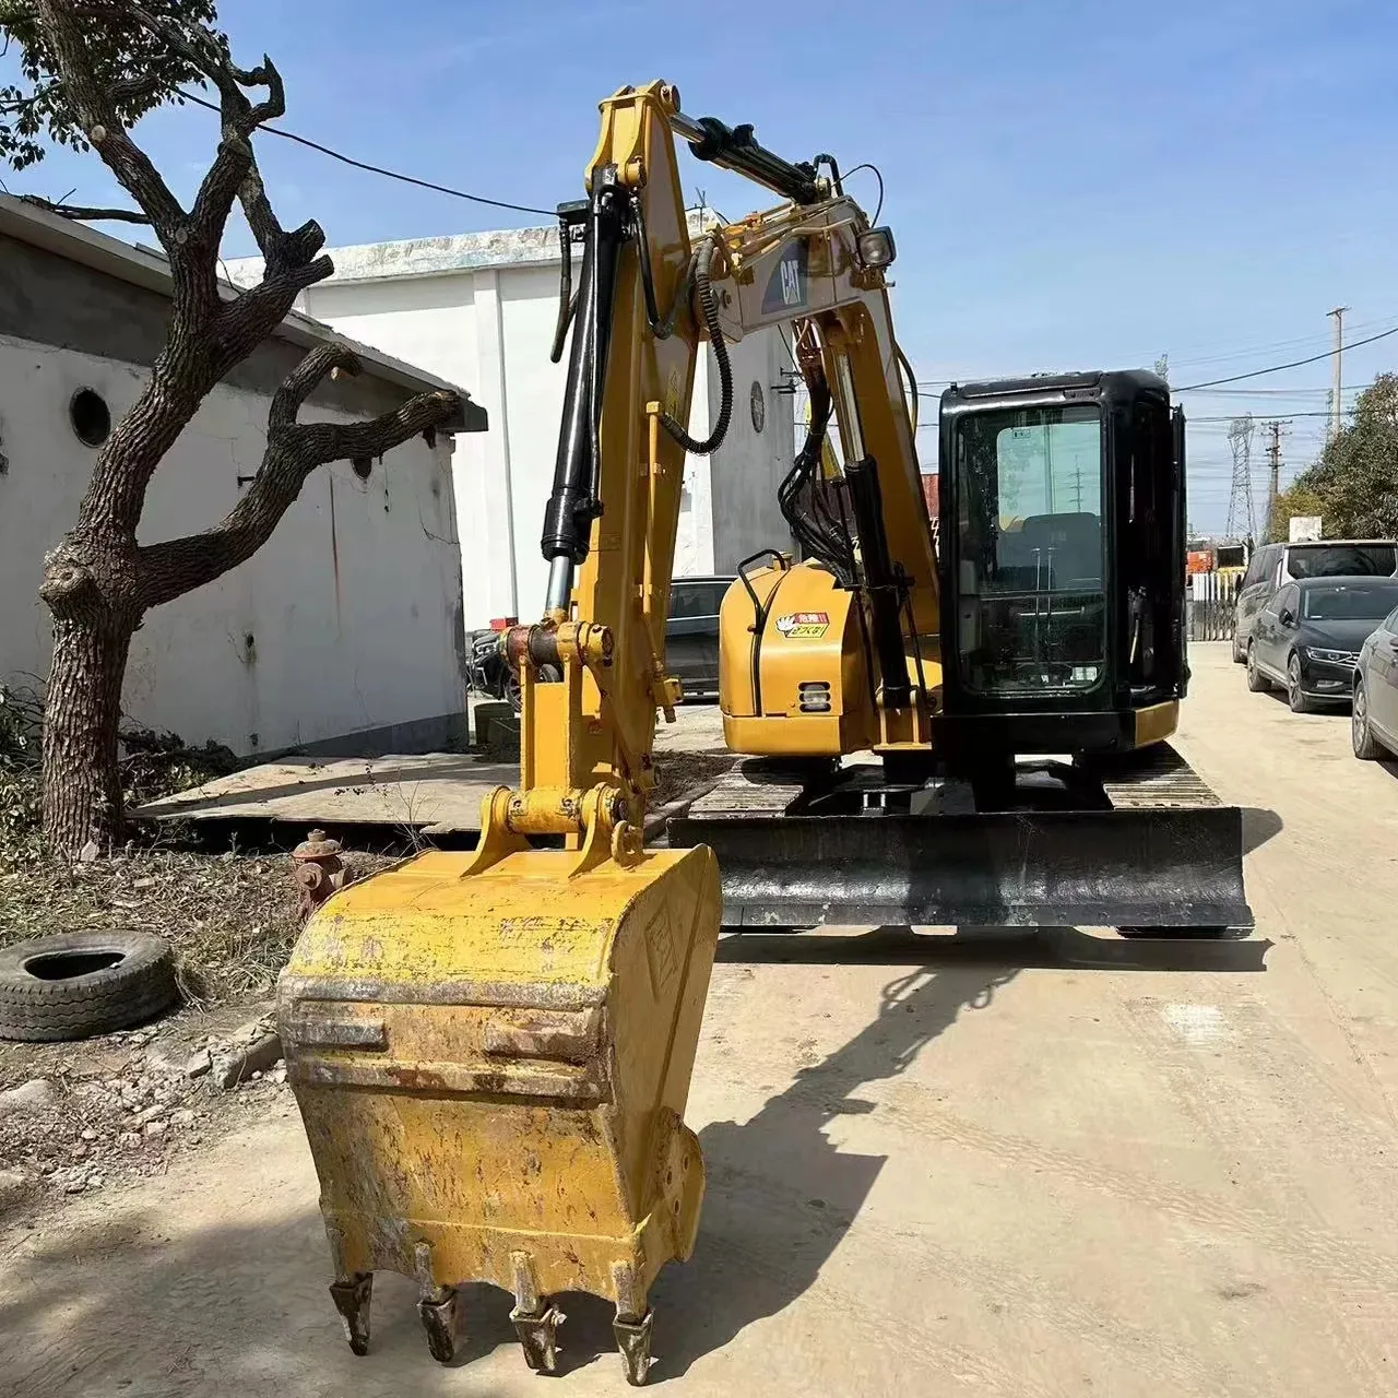
M 159 254 L 0 197 L 0 682 L 48 674 L 43 555 L 75 523 L 96 445 L 140 393 L 168 319 Z M 208 528 L 236 503 L 273 390 L 331 338 L 294 315 L 210 394 L 155 474 L 143 542 Z M 312 394 L 308 419 L 363 419 L 447 386 L 377 351 L 361 359 L 359 377 Z M 460 425 L 480 433 L 484 412 L 467 403 Z M 124 712 L 239 754 L 424 751 L 461 735 L 453 440 L 316 471 L 253 559 L 147 615 Z

